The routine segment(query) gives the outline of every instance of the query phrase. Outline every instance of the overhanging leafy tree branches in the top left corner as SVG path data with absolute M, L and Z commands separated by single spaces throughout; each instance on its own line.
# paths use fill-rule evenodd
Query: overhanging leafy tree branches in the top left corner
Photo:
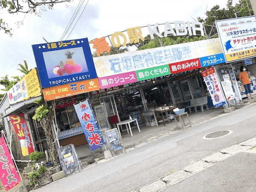
M 31 13 L 38 15 L 39 11 L 52 9 L 55 4 L 70 2 L 71 0 L 0 0 L 0 10 L 2 13 L 9 14 L 24 14 Z M 9 28 L 8 23 L 0 18 L 0 31 L 12 35 L 12 29 Z

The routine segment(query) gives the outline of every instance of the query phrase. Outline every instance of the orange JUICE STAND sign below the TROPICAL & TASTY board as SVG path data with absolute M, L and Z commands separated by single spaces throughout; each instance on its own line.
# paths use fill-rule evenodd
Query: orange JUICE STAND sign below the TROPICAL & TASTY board
M 63 84 L 55 87 L 48 87 L 43 89 L 45 101 L 54 99 L 61 99 L 64 97 L 79 95 L 90 91 L 99 90 L 98 79 L 89 79 L 86 81 L 78 81 L 69 84 Z

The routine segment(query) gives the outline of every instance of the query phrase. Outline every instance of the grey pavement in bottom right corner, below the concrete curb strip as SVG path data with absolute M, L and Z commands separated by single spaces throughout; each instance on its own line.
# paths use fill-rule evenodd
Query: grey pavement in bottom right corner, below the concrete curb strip
M 239 153 L 216 163 L 165 192 L 255 192 L 256 154 Z

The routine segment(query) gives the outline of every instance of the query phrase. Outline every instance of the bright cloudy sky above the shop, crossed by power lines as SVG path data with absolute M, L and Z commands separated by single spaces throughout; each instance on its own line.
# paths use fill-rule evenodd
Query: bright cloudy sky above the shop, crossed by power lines
M 193 21 L 197 17 L 204 18 L 206 10 L 216 4 L 225 7 L 227 1 L 163 0 L 158 2 L 89 0 L 68 40 L 87 37 L 90 41 L 136 26 L 176 20 Z M 23 60 L 27 61 L 29 68 L 36 67 L 31 45 L 45 43 L 42 37 L 48 42 L 59 41 L 78 3 L 79 0 L 73 0 L 71 3 L 58 4 L 51 10 L 40 12 L 40 16 L 22 13 L 10 15 L 0 10 L 0 18 L 8 22 L 13 29 L 12 37 L 0 31 L 0 77 L 21 75 L 17 70 L 17 64 L 23 63 Z M 17 23 L 20 21 L 23 24 Z

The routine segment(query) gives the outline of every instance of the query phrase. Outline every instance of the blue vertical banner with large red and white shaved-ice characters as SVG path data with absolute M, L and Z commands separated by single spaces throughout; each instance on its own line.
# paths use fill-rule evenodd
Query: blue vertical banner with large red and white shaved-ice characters
M 90 150 L 93 151 L 104 145 L 101 131 L 99 130 L 89 100 L 74 104 L 76 114 L 79 118 L 84 131 L 85 138 L 89 144 Z

